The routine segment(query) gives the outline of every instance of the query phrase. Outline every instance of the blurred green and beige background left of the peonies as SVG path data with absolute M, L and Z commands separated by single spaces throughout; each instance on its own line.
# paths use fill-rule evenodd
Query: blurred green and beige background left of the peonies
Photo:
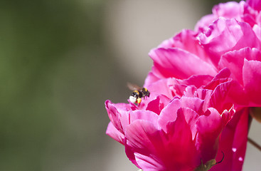
M 220 1 L 187 0 L 191 6 L 186 10 L 199 11 L 191 16 L 192 21 L 183 24 L 188 16 L 181 17 L 173 10 L 178 19 L 174 17 L 170 22 L 168 16 L 169 32 L 155 29 L 151 35 L 144 34 L 146 30 L 135 32 L 135 24 L 121 26 L 132 23 L 135 14 L 135 22 L 143 17 L 157 24 L 161 20 L 157 16 L 165 9 L 146 16 L 151 4 L 179 8 L 180 2 L 147 1 L 145 7 L 139 4 L 142 1 L 132 2 L 127 10 L 117 6 L 124 4 L 122 0 L 1 1 L 0 170 L 110 170 L 110 165 L 123 170 L 125 164 L 119 166 L 117 156 L 132 165 L 124 156 L 124 148 L 105 135 L 109 123 L 105 100 L 127 102 L 127 81 L 142 85 L 149 72 L 149 49 L 181 28 L 193 28 Z M 137 14 L 137 10 L 144 11 L 144 15 Z M 126 11 L 130 12 L 129 18 L 120 15 Z M 140 22 L 139 26 L 151 30 L 153 24 L 149 28 L 149 24 Z M 151 39 L 146 45 L 137 45 L 143 51 L 135 55 L 137 47 L 132 45 L 137 42 L 126 44 L 132 37 L 124 36 L 119 45 L 134 53 L 126 51 L 125 56 L 126 47 L 114 43 L 114 37 L 131 32 Z M 129 58 L 128 54 L 138 58 Z M 131 69 L 125 69 L 128 67 Z M 121 154 L 116 160 L 115 150 Z M 136 168 L 131 166 L 130 170 Z

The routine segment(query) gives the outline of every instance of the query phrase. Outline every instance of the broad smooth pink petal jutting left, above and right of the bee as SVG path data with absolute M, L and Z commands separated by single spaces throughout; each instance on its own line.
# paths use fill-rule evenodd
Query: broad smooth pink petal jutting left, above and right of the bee
M 197 56 L 179 48 L 157 48 L 150 51 L 154 61 L 154 75 L 161 78 L 186 79 L 192 75 L 215 76 L 215 69 Z

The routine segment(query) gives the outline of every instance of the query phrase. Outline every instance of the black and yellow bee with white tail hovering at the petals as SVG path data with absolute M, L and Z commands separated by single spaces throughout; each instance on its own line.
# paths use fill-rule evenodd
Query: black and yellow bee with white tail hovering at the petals
M 129 95 L 129 101 L 132 103 L 140 104 L 142 102 L 142 98 L 149 97 L 150 95 L 147 88 L 141 88 L 132 83 L 127 83 L 127 86 L 130 90 L 133 90 L 132 94 Z

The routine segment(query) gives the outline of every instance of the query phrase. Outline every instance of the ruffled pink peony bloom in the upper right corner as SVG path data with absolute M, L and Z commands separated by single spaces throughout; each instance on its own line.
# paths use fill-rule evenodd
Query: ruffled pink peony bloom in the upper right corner
M 261 105 L 260 6 L 257 0 L 219 4 L 196 25 L 196 38 L 211 63 L 218 70 L 229 68 L 231 78 L 240 84 L 231 97 L 243 106 Z

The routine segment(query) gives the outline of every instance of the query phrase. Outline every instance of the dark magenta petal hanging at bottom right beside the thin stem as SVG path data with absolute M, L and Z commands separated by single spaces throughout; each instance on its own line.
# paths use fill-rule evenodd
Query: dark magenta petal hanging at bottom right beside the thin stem
M 248 109 L 244 108 L 235 113 L 232 120 L 225 126 L 216 157 L 217 161 L 220 160 L 223 157 L 222 152 L 224 152 L 225 160 L 215 165 L 211 170 L 242 170 L 247 146 L 247 123 Z

